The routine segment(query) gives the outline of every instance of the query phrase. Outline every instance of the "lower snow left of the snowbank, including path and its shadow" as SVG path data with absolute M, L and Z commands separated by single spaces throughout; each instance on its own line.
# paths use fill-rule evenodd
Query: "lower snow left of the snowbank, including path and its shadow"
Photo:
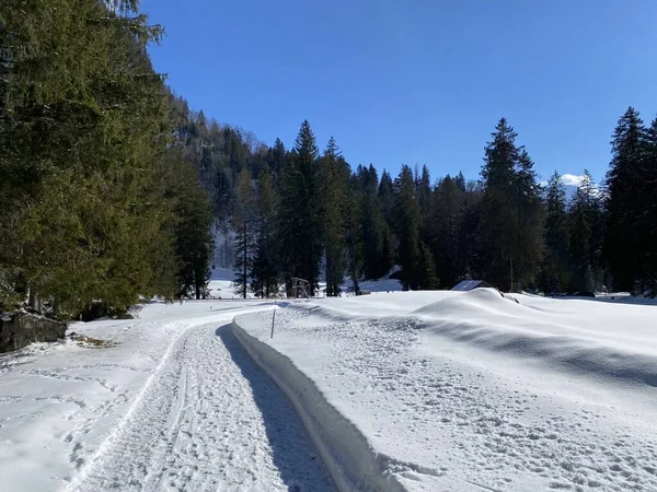
M 287 399 L 232 336 L 257 303 L 74 324 L 108 341 L 0 358 L 0 490 L 333 490 Z

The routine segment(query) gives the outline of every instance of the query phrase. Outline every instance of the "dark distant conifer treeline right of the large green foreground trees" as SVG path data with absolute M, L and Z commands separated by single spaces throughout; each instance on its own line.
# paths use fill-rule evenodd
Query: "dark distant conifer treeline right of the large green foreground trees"
M 345 277 L 358 290 L 394 265 L 405 290 L 474 278 L 543 292 L 653 288 L 657 122 L 644 128 L 630 108 L 606 180 L 585 171 L 570 199 L 556 172 L 539 180 L 517 137 L 500 119 L 476 181 L 461 173 L 433 181 L 426 166 L 394 177 L 372 165 L 353 171 L 333 139 L 320 151 L 308 121 L 290 150 L 280 140 L 247 145 L 239 171 L 215 169 L 216 183 L 233 183 L 214 195 L 234 232 L 239 293 L 266 296 L 279 282 L 289 292 L 300 277 L 312 293 L 323 279 L 336 295 Z

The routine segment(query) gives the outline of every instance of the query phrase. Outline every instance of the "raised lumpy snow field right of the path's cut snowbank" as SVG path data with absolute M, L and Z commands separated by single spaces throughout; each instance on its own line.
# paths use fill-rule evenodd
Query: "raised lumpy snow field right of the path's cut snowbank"
M 291 303 L 272 340 L 270 313 L 235 323 L 356 425 L 390 490 L 657 490 L 657 306 L 515 297 Z

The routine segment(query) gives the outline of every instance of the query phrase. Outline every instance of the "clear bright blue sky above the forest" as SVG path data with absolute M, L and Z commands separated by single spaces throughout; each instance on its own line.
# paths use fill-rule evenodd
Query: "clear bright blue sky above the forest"
M 155 69 L 194 109 L 290 147 L 308 118 L 353 166 L 479 174 L 505 116 L 541 176 L 596 179 L 657 113 L 657 0 L 143 0 Z

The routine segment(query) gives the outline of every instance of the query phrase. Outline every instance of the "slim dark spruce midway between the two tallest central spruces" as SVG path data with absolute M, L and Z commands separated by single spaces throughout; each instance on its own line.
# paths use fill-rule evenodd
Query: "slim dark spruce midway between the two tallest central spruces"
M 402 267 L 400 280 L 405 291 L 417 290 L 419 286 L 420 212 L 411 167 L 407 165 L 402 166 L 402 171 L 395 179 L 394 187 L 394 218 L 399 241 L 397 261 Z

